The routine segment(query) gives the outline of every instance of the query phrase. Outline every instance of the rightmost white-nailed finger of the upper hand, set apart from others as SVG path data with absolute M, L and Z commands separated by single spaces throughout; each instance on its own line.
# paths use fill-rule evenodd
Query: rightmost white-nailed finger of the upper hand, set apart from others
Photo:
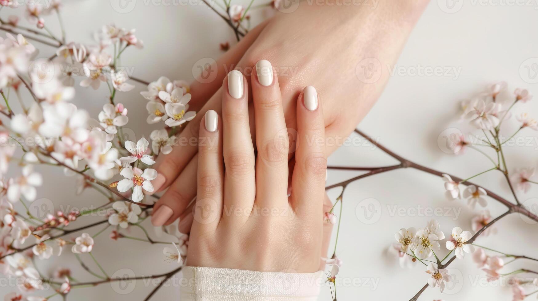
M 297 102 L 297 150 L 291 202 L 298 214 L 321 218 L 325 190 L 325 126 L 316 89 L 308 86 Z

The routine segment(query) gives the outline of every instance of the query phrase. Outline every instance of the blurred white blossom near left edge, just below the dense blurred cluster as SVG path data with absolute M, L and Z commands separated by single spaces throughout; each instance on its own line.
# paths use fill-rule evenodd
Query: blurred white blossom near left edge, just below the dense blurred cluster
M 10 179 L 8 199 L 10 202 L 17 202 L 22 195 L 31 202 L 36 199 L 36 187 L 41 186 L 41 184 L 43 184 L 41 175 L 33 171 L 31 165 L 26 165 L 22 169 L 22 176 Z

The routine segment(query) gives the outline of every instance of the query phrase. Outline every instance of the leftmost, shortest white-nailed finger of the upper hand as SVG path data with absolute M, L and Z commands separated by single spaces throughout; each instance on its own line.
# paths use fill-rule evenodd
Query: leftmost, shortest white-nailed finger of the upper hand
M 209 110 L 200 125 L 193 231 L 203 233 L 215 231 L 222 217 L 224 163 L 219 119 L 217 112 Z

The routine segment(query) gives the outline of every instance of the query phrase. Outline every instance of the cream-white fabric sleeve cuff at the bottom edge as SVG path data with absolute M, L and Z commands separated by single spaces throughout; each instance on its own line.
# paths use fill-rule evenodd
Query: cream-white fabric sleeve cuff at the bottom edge
M 310 274 L 184 267 L 187 285 L 181 300 L 306 301 L 317 300 L 323 271 Z

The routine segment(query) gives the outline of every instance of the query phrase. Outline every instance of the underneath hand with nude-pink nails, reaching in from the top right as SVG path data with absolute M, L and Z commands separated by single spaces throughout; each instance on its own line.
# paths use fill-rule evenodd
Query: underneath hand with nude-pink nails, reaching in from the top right
M 215 80 L 202 80 L 208 75 L 205 73 L 192 84 L 189 104 L 199 113 L 179 139 L 196 140 L 204 113 L 210 109 L 221 112 L 221 82 L 228 71 L 237 69 L 250 75 L 254 64 L 265 58 L 280 77 L 284 118 L 292 134 L 297 129 L 298 95 L 306 85 L 316 87 L 325 107 L 325 137 L 331 141 L 326 145 L 327 153 L 334 152 L 379 97 L 389 76 L 387 65 L 398 58 L 426 4 L 425 0 L 387 0 L 374 9 L 302 1 L 293 13 L 279 13 L 254 28 L 217 61 L 208 71 L 216 74 Z M 378 73 L 362 74 L 363 67 L 370 67 L 370 58 L 379 66 L 366 71 Z M 379 78 L 372 81 L 369 76 Z M 253 123 L 250 126 L 252 129 Z M 197 152 L 197 145 L 189 143 L 174 147 L 172 153 L 157 160 L 159 176 L 152 181 L 155 192 L 168 190 L 154 207 L 154 226 L 171 224 L 196 196 Z M 179 225 L 181 232 L 188 232 L 190 218 L 180 220 Z

